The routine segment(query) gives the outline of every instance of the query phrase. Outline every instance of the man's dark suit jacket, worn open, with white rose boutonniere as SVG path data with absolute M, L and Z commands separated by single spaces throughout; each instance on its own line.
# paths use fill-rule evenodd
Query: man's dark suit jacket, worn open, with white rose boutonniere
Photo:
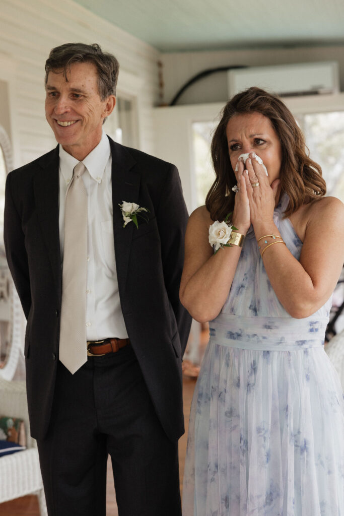
M 110 140 L 113 233 L 127 332 L 170 439 L 184 432 L 181 361 L 191 318 L 179 302 L 187 211 L 173 166 Z M 26 383 L 31 434 L 50 422 L 59 351 L 61 261 L 58 147 L 12 171 L 6 183 L 4 239 L 27 318 Z M 119 203 L 148 208 L 123 228 Z M 113 336 L 113 335 L 109 335 Z

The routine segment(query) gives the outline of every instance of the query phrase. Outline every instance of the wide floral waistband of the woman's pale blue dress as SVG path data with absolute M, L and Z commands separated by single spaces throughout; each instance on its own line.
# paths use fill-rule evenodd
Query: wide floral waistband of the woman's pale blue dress
M 210 341 L 241 349 L 289 351 L 321 347 L 328 319 L 241 317 L 220 313 L 209 322 Z

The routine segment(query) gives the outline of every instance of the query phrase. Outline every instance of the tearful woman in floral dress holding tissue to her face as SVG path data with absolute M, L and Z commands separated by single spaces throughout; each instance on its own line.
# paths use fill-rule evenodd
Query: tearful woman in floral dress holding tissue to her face
M 216 180 L 188 223 L 180 291 L 210 321 L 183 514 L 342 515 L 344 407 L 323 342 L 344 206 L 324 197 L 290 111 L 259 88 L 226 104 L 211 153 Z M 232 245 L 212 227 L 213 249 L 209 226 L 231 212 Z

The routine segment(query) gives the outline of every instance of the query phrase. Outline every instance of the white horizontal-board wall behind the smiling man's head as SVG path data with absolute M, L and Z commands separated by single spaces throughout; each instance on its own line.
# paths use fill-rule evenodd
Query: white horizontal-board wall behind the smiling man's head
M 44 116 L 44 63 L 54 46 L 77 41 L 99 43 L 116 55 L 118 93 L 137 91 L 138 147 L 154 154 L 160 54 L 72 0 L 0 0 L 0 79 L 9 84 L 15 167 L 56 144 Z

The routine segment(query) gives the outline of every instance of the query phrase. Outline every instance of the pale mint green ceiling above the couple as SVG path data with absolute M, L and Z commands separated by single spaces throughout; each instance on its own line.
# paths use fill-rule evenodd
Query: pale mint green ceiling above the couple
M 76 0 L 161 52 L 344 45 L 343 0 Z

